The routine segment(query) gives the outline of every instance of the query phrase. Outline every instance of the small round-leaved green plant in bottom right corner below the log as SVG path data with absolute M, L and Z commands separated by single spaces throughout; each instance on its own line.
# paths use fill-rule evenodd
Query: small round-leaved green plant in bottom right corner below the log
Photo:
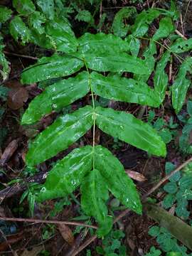
M 178 245 L 176 238 L 172 237 L 171 234 L 165 228 L 159 228 L 159 226 L 153 226 L 149 229 L 149 235 L 156 238 L 159 247 L 163 252 L 166 252 L 166 256 L 191 256 L 187 253 L 187 248 L 183 245 Z M 159 253 L 159 254 L 158 254 Z M 161 255 L 161 251 L 156 250 L 154 247 L 150 250 L 146 256 L 157 256 Z

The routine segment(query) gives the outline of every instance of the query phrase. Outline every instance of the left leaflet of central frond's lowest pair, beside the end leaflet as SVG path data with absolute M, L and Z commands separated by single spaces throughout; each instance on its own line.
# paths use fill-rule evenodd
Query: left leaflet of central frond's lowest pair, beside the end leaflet
M 38 201 L 67 196 L 82 183 L 92 169 L 92 146 L 83 146 L 65 156 L 48 172 Z

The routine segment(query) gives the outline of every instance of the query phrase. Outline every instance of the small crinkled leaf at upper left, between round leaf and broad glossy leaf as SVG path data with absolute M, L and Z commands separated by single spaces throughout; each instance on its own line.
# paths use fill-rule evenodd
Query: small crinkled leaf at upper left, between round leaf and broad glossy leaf
M 45 28 L 42 26 L 45 22 L 46 17 L 39 11 L 34 11 L 33 14 L 28 17 L 28 26 L 34 28 L 40 34 L 45 32 Z

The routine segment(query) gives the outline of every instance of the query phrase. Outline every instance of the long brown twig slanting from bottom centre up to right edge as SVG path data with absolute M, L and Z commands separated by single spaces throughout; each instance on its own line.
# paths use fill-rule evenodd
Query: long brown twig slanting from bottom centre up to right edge
M 159 188 L 165 181 L 167 181 L 169 178 L 171 178 L 171 176 L 173 176 L 174 174 L 176 174 L 178 171 L 180 171 L 181 169 L 183 169 L 183 167 L 185 167 L 188 163 L 190 163 L 192 161 L 192 157 L 188 160 L 186 160 L 183 164 L 181 164 L 180 166 L 178 166 L 178 168 L 176 168 L 174 171 L 172 171 L 170 174 L 166 175 L 164 178 L 161 179 L 161 181 L 159 181 L 159 183 L 157 183 L 153 188 L 151 188 L 147 193 L 144 194 L 144 196 L 142 196 L 142 201 L 145 201 L 146 198 L 151 195 L 151 193 L 153 193 L 154 191 L 156 191 L 157 188 Z M 127 215 L 127 213 L 129 213 L 131 210 L 127 209 L 124 210 L 122 213 L 120 213 L 115 219 L 114 219 L 114 223 L 117 223 L 118 220 L 120 220 L 121 218 L 123 218 L 125 215 Z M 79 248 L 78 250 L 75 250 L 75 252 L 73 252 L 73 254 L 71 256 L 75 256 L 78 255 L 79 252 L 81 252 L 83 249 L 85 249 L 85 247 L 87 247 L 88 245 L 90 245 L 91 242 L 93 242 L 95 239 L 97 239 L 97 235 L 93 235 L 91 238 L 89 238 L 87 241 L 85 241 Z

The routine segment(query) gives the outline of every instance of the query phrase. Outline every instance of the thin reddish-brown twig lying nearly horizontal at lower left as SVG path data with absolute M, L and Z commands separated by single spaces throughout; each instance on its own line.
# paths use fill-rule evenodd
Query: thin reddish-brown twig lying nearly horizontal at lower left
M 59 224 L 59 225 L 76 225 L 76 226 L 83 226 L 87 228 L 94 228 L 97 229 L 97 226 L 95 225 L 88 225 L 85 223 L 78 223 L 78 222 L 70 222 L 70 221 L 60 221 L 60 220 L 37 220 L 37 219 L 29 219 L 29 218 L 6 218 L 6 217 L 0 217 L 0 220 L 6 220 L 6 221 L 16 221 L 16 222 L 28 222 L 28 223 L 50 223 L 50 224 Z

